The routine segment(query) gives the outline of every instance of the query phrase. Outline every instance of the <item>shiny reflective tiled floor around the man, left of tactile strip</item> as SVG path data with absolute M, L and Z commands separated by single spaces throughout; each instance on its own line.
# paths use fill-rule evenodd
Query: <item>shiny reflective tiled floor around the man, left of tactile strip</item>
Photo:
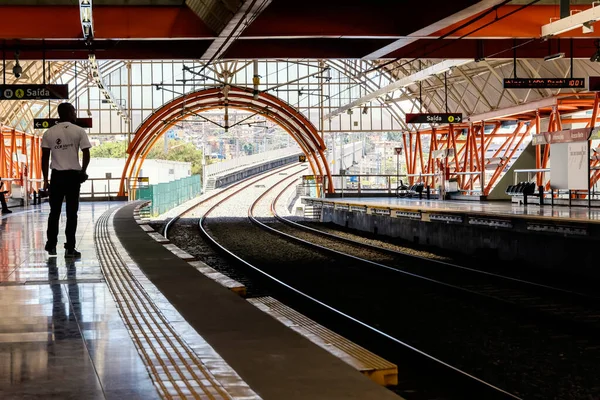
M 48 205 L 0 219 L 0 399 L 159 398 L 95 253 L 94 223 L 114 205 L 81 205 L 81 260 L 44 251 Z

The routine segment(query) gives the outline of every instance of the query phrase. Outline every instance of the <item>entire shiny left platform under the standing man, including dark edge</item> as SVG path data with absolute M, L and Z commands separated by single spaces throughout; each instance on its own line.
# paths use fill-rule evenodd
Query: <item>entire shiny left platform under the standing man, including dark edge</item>
M 399 398 L 198 272 L 135 207 L 81 204 L 77 260 L 43 250 L 48 205 L 1 216 L 1 399 Z

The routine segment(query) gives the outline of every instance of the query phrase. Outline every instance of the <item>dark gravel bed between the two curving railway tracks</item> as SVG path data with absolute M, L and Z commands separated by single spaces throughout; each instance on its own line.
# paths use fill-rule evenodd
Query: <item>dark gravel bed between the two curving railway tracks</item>
M 264 211 L 256 214 L 276 224 L 267 217 L 271 198 L 261 201 Z M 596 343 L 436 293 L 391 271 L 331 259 L 259 230 L 242 216 L 224 217 L 245 213 L 251 200 L 225 205 L 219 218 L 209 220 L 210 233 L 267 273 L 526 399 L 589 399 L 598 393 Z

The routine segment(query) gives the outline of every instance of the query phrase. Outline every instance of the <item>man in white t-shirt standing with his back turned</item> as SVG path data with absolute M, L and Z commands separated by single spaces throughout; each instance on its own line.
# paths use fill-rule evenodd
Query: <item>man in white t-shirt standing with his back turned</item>
M 50 192 L 50 216 L 48 217 L 48 241 L 46 251 L 56 255 L 58 222 L 63 199 L 67 202 L 67 226 L 65 257 L 81 257 L 75 250 L 79 190 L 87 180 L 86 170 L 90 163 L 90 141 L 83 128 L 75 125 L 77 113 L 70 103 L 58 106 L 60 122 L 48 129 L 42 138 L 42 173 L 44 189 Z M 79 150 L 83 153 L 83 165 L 79 164 Z M 52 179 L 48 182 L 48 164 L 52 155 Z

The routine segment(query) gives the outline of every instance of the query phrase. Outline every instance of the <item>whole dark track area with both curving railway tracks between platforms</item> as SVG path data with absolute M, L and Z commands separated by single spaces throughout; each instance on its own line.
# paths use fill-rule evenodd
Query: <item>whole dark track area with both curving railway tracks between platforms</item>
M 271 174 L 271 178 L 276 174 Z M 269 194 L 273 190 L 265 191 L 256 201 L 243 195 L 247 203 L 244 208 L 251 208 L 244 218 L 211 217 L 238 190 L 205 204 L 199 213 L 204 216 L 198 220 L 204 237 L 229 261 L 235 260 L 238 267 L 232 270 L 243 271 L 249 281 L 260 282 L 261 288 L 266 288 L 263 290 L 398 364 L 400 383 L 395 390 L 399 394 L 409 400 L 590 398 L 596 380 L 585 378 L 579 382 L 577 375 L 584 375 L 579 372 L 563 371 L 566 377 L 559 378 L 556 375 L 565 364 L 570 364 L 575 353 L 588 353 L 577 369 L 587 369 L 595 363 L 600 350 L 597 343 L 574 337 L 579 333 L 577 329 L 548 330 L 537 323 L 538 314 L 553 319 L 554 324 L 556 318 L 577 319 L 573 317 L 579 315 L 583 317 L 579 322 L 594 325 L 592 312 L 582 315 L 578 308 L 565 311 L 564 303 L 552 303 L 543 296 L 560 293 L 566 299 L 581 300 L 586 295 L 379 247 L 368 248 L 364 243 L 307 230 L 276 211 L 275 197 L 285 192 L 289 185 L 284 181 L 291 178 L 272 184 L 280 189 L 277 196 Z M 237 189 L 244 190 L 242 185 Z M 256 193 L 252 196 L 256 197 Z M 236 212 L 241 215 L 239 210 Z M 224 212 L 228 213 L 235 214 Z M 261 226 L 262 233 L 257 226 Z M 272 229 L 294 239 L 281 239 L 282 233 Z M 302 239 L 310 240 L 300 243 Z M 320 247 L 314 247 L 310 241 L 318 242 Z M 269 244 L 266 250 L 265 243 Z M 184 250 L 190 252 L 189 247 Z M 360 256 L 353 256 L 353 252 Z M 288 261 L 282 263 L 282 259 Z M 485 277 L 487 286 L 481 277 Z M 498 281 L 504 286 L 499 286 Z M 535 295 L 525 287 L 534 287 Z M 474 298 L 486 300 L 473 304 Z M 516 318 L 515 311 L 519 311 Z M 432 332 L 439 332 L 439 337 L 436 339 Z M 440 362 L 440 358 L 451 360 L 456 367 Z M 483 380 L 508 388 L 516 396 L 510 397 Z

